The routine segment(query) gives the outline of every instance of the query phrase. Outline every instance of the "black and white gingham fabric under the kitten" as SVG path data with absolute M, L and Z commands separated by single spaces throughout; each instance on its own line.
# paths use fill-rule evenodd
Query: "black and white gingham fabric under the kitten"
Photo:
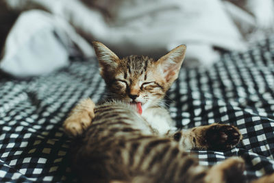
M 97 61 L 27 81 L 0 79 L 0 182 L 77 182 L 62 121 L 79 99 L 99 101 Z M 182 69 L 169 95 L 178 127 L 230 123 L 243 135 L 228 151 L 196 151 L 201 164 L 245 159 L 247 177 L 274 172 L 274 37 L 246 53 L 227 53 L 205 69 Z

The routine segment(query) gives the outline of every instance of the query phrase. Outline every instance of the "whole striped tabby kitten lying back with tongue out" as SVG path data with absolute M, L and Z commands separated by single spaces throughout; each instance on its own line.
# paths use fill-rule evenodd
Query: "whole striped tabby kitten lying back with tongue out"
M 173 121 L 160 102 L 177 78 L 185 46 L 155 61 L 120 60 L 103 44 L 94 45 L 112 99 L 96 108 L 91 99 L 80 101 L 64 121 L 67 134 L 81 134 L 72 146 L 72 160 L 83 182 L 245 182 L 241 158 L 207 169 L 185 151 L 236 145 L 241 138 L 236 127 L 212 124 L 171 132 Z M 256 183 L 271 182 L 273 176 Z

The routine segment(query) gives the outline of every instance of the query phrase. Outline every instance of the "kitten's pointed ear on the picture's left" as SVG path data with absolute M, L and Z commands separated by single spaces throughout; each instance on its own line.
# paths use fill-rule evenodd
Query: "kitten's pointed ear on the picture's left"
M 101 74 L 110 69 L 115 69 L 119 62 L 118 56 L 101 42 L 93 41 L 92 45 L 99 60 Z

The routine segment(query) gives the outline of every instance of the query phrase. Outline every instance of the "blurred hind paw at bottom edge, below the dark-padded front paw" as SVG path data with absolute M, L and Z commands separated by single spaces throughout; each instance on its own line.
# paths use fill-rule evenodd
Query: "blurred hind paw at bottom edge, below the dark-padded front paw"
M 208 183 L 243 183 L 245 182 L 243 171 L 245 171 L 244 160 L 242 160 L 242 158 L 232 157 L 209 169 L 205 179 Z

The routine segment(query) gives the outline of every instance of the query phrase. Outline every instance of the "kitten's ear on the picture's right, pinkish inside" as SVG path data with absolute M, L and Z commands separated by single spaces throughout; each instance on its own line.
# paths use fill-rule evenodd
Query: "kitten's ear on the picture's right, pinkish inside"
M 166 82 L 172 83 L 177 79 L 185 55 L 186 45 L 179 45 L 156 62 Z

